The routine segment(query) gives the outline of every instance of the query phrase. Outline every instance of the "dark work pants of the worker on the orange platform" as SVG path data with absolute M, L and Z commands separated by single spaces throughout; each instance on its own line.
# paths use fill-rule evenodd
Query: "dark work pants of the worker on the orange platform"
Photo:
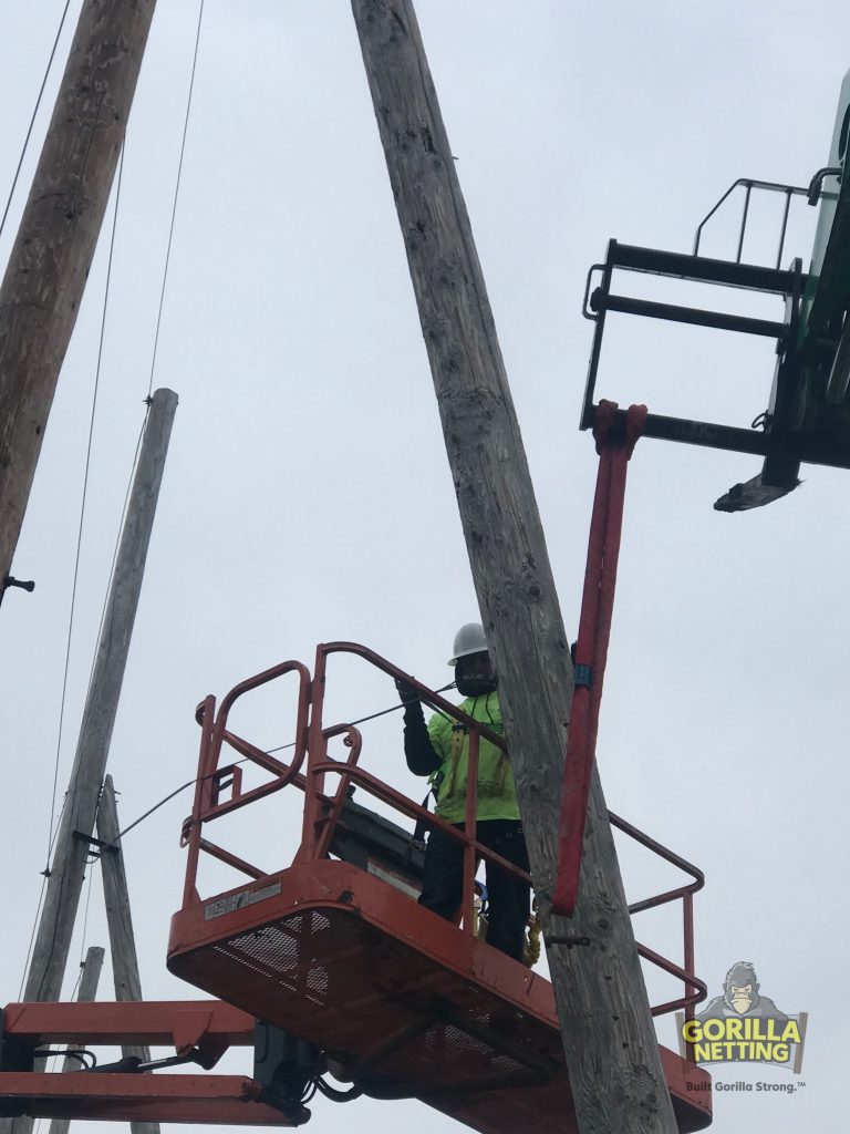
M 464 830 L 464 823 L 458 823 Z M 484 819 L 476 824 L 476 839 L 508 862 L 528 870 L 528 852 L 518 819 Z M 487 945 L 522 959 L 525 928 L 530 914 L 530 888 L 507 871 L 485 863 L 490 914 Z M 464 845 L 443 831 L 433 830 L 425 850 L 419 905 L 453 921 L 464 899 Z

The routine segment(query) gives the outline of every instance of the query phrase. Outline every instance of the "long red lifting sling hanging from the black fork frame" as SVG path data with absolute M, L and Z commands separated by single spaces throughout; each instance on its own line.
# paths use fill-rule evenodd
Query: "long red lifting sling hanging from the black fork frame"
M 601 401 L 596 408 L 594 438 L 600 455 L 587 548 L 585 589 L 576 645 L 578 680 L 572 697 L 567 758 L 563 767 L 559 830 L 558 879 L 552 912 L 569 916 L 576 908 L 581 843 L 590 795 L 590 777 L 596 759 L 600 701 L 605 676 L 611 618 L 620 555 L 626 473 L 629 457 L 644 431 L 646 406 L 630 406 L 626 434 L 614 435 L 615 401 Z

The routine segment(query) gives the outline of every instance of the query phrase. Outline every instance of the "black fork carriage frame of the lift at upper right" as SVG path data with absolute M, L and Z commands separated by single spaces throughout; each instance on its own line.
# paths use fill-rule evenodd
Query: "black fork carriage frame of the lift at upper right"
M 646 421 L 645 435 L 763 457 L 762 474 L 755 480 L 759 489 L 767 491 L 767 497 L 771 499 L 784 494 L 799 483 L 801 462 L 840 468 L 850 467 L 850 422 L 847 411 L 840 404 L 847 395 L 847 383 L 843 383 L 840 390 L 841 397 L 835 397 L 835 361 L 836 355 L 842 353 L 839 346 L 843 338 L 845 304 L 833 313 L 826 325 L 817 328 L 817 335 L 809 333 L 813 331 L 810 325 L 801 327 L 801 311 L 810 313 L 816 308 L 816 302 L 811 303 L 807 290 L 809 277 L 802 271 L 802 262 L 799 259 L 793 260 L 789 268 L 780 268 L 791 197 L 805 195 L 809 203 L 816 203 L 824 176 L 835 172 L 821 170 L 809 188 L 749 179 L 736 181 L 700 223 L 690 255 L 657 248 L 640 248 L 617 240 L 609 243 L 605 262 L 590 268 L 585 288 L 583 314 L 595 323 L 595 331 L 581 411 L 581 429 L 592 429 L 596 415 L 597 404 L 594 400 L 596 379 L 609 312 L 646 315 L 652 319 L 771 338 L 776 344 L 776 365 L 767 407 L 749 429 L 651 413 Z M 732 191 L 740 186 L 746 193 L 737 257 L 716 260 L 699 255 L 699 242 L 706 221 L 714 215 Z M 845 186 L 842 186 L 840 194 L 842 198 L 844 188 Z M 779 251 L 773 266 L 741 262 L 753 189 L 785 195 Z M 840 208 L 836 222 L 841 220 L 841 212 Z M 615 271 L 645 272 L 669 279 L 695 280 L 775 295 L 784 301 L 784 318 L 781 321 L 754 319 L 617 295 L 612 293 Z M 817 281 L 813 280 L 813 284 Z M 831 384 L 830 396 L 827 388 Z M 623 428 L 624 416 L 620 411 L 618 417 L 623 422 Z M 734 498 L 738 490 L 737 502 L 736 499 L 730 501 L 726 497 L 717 501 L 715 507 L 721 510 L 739 510 L 753 507 L 755 503 L 767 502 L 766 499 L 750 499 L 747 502 L 747 492 L 741 491 L 746 489 L 747 485 L 737 485 L 731 493 Z

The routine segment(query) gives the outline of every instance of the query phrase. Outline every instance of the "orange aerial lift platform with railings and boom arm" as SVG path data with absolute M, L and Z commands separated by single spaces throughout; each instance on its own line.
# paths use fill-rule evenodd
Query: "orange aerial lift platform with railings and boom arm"
M 346 653 L 390 677 L 403 677 L 422 700 L 469 729 L 466 831 L 444 823 L 360 763 L 363 737 L 349 723 L 323 723 L 328 659 Z M 228 723 L 237 701 L 273 682 L 297 683 L 296 742 L 290 762 L 256 747 Z M 0 1112 L 90 1118 L 297 1126 L 315 1091 L 334 1101 L 416 1098 L 482 1134 L 512 1134 L 520 1124 L 572 1134 L 576 1119 L 550 982 L 479 939 L 475 872 L 481 860 L 516 866 L 475 839 L 475 768 L 486 737 L 500 735 L 364 646 L 320 645 L 313 675 L 300 662 L 273 667 L 236 686 L 216 709 L 198 706 L 201 756 L 192 815 L 182 908 L 168 950 L 172 973 L 216 997 L 173 1005 L 10 1005 L 0 1047 Z M 347 758 L 332 759 L 341 737 Z M 244 787 L 246 765 L 263 782 Z M 266 778 L 267 777 L 267 778 Z M 256 779 L 256 777 L 255 777 Z M 296 787 L 304 793 L 300 845 L 290 866 L 266 873 L 210 838 L 215 820 Z M 409 830 L 362 806 L 354 789 L 419 828 L 442 827 L 464 844 L 464 903 L 458 924 L 416 902 L 423 847 Z M 683 983 L 683 995 L 653 1008 L 683 1009 L 705 996 L 694 972 L 692 897 L 700 872 L 643 832 L 612 823 L 689 874 L 678 889 L 637 903 L 632 913 L 682 903 L 683 959 L 639 945 L 640 955 Z M 210 856 L 245 879 L 198 892 Z M 527 878 L 527 875 L 522 875 Z M 530 881 L 530 879 L 529 879 Z M 44 1043 L 164 1043 L 173 1058 L 99 1074 L 33 1069 Z M 253 1077 L 162 1074 L 173 1063 L 214 1066 L 230 1046 L 254 1046 Z M 86 1051 L 79 1053 L 85 1060 Z M 679 1129 L 711 1123 L 711 1080 L 662 1048 Z M 152 1069 L 143 1075 L 138 1070 Z M 134 1074 L 133 1072 L 136 1070 Z M 333 1076 L 338 1085 L 325 1078 Z

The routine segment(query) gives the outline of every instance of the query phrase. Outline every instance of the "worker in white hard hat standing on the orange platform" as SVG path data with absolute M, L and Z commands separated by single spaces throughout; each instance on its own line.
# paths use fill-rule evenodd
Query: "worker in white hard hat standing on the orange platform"
M 454 637 L 458 692 L 466 700 L 458 706 L 491 731 L 502 733 L 502 711 L 496 675 L 479 623 L 461 626 Z M 436 796 L 435 813 L 464 830 L 469 767 L 468 729 L 442 713 L 425 723 L 414 686 L 397 682 L 405 705 L 405 756 L 415 776 L 427 776 Z M 482 846 L 528 870 L 528 852 L 517 803 L 517 788 L 508 756 L 490 741 L 478 745 L 478 798 L 476 839 Z M 529 887 L 504 870 L 486 863 L 490 914 L 487 943 L 517 960 L 522 959 L 525 929 L 530 913 Z M 444 831 L 428 835 L 419 904 L 453 921 L 462 900 L 464 846 Z

